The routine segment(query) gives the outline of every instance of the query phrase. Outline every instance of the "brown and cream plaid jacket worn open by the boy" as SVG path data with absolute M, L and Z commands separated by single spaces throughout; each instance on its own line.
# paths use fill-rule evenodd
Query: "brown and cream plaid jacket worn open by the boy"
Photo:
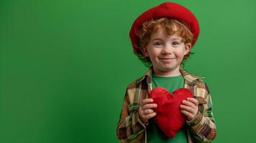
M 193 74 L 180 69 L 185 79 L 184 87 L 190 89 L 198 100 L 198 114 L 195 119 L 186 121 L 188 143 L 211 142 L 216 137 L 216 126 L 212 112 L 209 89 L 205 82 Z M 116 128 L 120 142 L 147 142 L 147 131 L 138 114 L 139 104 L 148 98 L 152 90 L 152 68 L 143 77 L 127 86 L 122 112 Z

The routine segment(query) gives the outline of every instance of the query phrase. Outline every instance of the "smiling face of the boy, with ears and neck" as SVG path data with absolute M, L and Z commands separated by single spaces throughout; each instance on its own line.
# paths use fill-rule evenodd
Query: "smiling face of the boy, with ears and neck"
M 146 49 L 142 49 L 145 56 L 150 56 L 155 74 L 179 74 L 180 64 L 184 55 L 188 54 L 191 44 L 184 44 L 178 34 L 167 36 L 164 29 L 152 34 Z M 168 75 L 166 73 L 169 73 Z

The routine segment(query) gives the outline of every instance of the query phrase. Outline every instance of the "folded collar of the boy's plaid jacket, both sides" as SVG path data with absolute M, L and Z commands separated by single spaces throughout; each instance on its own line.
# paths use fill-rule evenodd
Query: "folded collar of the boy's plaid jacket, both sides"
M 183 76 L 183 78 L 187 81 L 187 82 L 193 82 L 196 81 L 197 79 L 203 79 L 204 77 L 199 77 L 196 76 L 194 74 L 189 74 L 188 71 L 186 71 L 185 69 L 180 68 L 180 74 Z M 138 82 L 142 82 L 144 79 L 146 79 L 147 84 L 151 83 L 152 80 L 152 66 L 150 67 L 150 69 L 148 69 L 144 76 L 138 81 Z

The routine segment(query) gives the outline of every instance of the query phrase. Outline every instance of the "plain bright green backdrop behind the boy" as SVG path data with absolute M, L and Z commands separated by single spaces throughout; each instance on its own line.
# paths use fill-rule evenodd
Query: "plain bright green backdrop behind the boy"
M 0 2 L 0 142 L 118 142 L 127 84 L 147 68 L 129 29 L 163 1 Z M 214 142 L 255 140 L 255 1 L 175 1 L 201 34 L 185 69 L 205 76 Z

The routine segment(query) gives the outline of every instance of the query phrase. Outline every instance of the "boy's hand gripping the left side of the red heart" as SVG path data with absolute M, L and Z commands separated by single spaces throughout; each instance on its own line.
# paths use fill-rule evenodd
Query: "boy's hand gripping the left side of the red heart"
M 142 123 L 146 124 L 149 119 L 157 115 L 153 108 L 157 107 L 157 104 L 152 104 L 153 99 L 144 99 L 142 105 L 139 108 L 139 116 Z

